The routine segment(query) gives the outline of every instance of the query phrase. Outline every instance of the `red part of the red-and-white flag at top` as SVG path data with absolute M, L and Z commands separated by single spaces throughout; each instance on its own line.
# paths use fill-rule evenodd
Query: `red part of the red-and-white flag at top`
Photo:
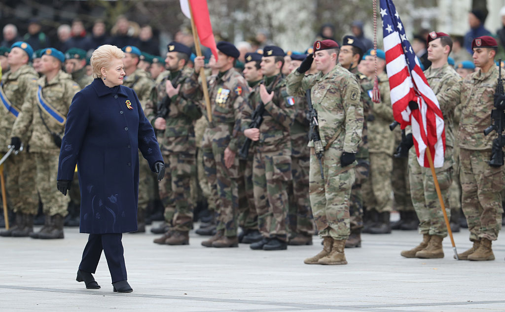
M 196 26 L 198 37 L 200 38 L 200 43 L 210 48 L 212 54 L 217 60 L 218 48 L 216 46 L 216 40 L 214 39 L 214 33 L 212 32 L 211 17 L 209 14 L 209 8 L 207 7 L 207 0 L 188 0 L 188 2 L 191 6 L 194 24 Z M 197 44 L 197 42 L 195 42 L 195 44 Z

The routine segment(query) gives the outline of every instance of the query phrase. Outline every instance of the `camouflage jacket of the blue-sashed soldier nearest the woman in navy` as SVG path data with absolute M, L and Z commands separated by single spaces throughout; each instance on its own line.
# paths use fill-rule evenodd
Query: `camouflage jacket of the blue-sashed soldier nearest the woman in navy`
M 46 104 L 64 117 L 63 123 L 58 122 L 49 115 L 47 110 L 39 105 L 37 100 L 39 87 Z M 28 140 L 30 151 L 58 153 L 60 148 L 54 143 L 51 132 L 60 136 L 63 135 L 68 109 L 72 103 L 72 98 L 79 90 L 79 85 L 72 80 L 69 74 L 63 71 L 60 71 L 49 82 L 45 81 L 45 76 L 40 77 L 37 80 L 37 85 L 29 90 L 25 98 L 21 113 L 12 128 L 11 137 L 24 137 L 30 126 L 32 126 L 33 130 Z

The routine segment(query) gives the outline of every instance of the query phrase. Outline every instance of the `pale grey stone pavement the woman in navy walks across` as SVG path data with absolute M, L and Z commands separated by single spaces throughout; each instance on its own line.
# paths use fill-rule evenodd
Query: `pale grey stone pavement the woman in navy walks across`
M 197 225 L 196 225 L 197 226 Z M 96 281 L 85 289 L 75 276 L 87 235 L 66 228 L 63 240 L 0 238 L 0 311 L 505 311 L 505 239 L 494 242 L 495 261 L 456 261 L 450 240 L 445 258 L 399 255 L 421 240 L 416 231 L 363 235 L 346 249 L 348 265 L 305 265 L 320 251 L 156 245 L 154 234 L 124 234 L 129 294 L 112 292 L 102 256 Z M 468 230 L 455 233 L 462 252 Z

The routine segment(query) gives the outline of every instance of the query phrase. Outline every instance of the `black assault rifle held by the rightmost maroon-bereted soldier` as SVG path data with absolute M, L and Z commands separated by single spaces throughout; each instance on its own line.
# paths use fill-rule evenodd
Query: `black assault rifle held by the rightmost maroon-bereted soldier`
M 501 65 L 501 59 L 498 64 Z M 503 139 L 503 126 L 505 126 L 505 93 L 503 92 L 503 79 L 501 79 L 501 66 L 498 67 L 498 84 L 494 91 L 494 107 L 491 111 L 491 125 L 484 130 L 484 135 L 488 135 L 493 130 L 496 131 L 498 137 L 493 140 L 491 149 L 491 159 L 488 164 L 491 167 L 503 166 L 503 146 L 505 140 Z

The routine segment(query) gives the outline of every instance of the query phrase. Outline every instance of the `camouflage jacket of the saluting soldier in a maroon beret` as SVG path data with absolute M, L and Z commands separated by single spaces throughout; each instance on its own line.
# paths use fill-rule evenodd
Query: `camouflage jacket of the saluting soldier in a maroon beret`
M 339 150 L 356 153 L 363 131 L 363 103 L 356 76 L 337 64 L 326 75 L 305 76 L 294 70 L 286 79 L 292 96 L 302 96 L 311 89 L 323 146 L 330 142 Z

